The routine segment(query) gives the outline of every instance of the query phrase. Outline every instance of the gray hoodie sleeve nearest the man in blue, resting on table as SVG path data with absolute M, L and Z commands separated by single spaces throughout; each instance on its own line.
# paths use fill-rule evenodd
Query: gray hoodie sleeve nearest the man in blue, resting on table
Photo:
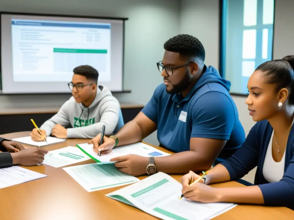
M 102 131 L 105 125 L 105 135 L 113 133 L 118 123 L 119 109 L 121 108 L 118 100 L 114 97 L 108 97 L 107 100 L 101 100 L 99 114 L 100 121 L 86 127 L 68 128 L 67 138 L 94 138 Z

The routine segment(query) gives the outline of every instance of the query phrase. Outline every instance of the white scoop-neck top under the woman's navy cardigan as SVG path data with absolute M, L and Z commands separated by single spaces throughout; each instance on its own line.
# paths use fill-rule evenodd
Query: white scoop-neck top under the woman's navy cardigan
M 294 119 L 292 121 L 293 125 Z M 273 154 L 272 154 L 272 143 L 273 143 L 273 134 L 270 137 L 270 143 L 268 143 L 268 149 L 265 154 L 265 159 L 263 163 L 263 177 L 265 180 L 268 182 L 278 182 L 283 178 L 284 175 L 284 168 L 285 168 L 285 154 L 286 154 L 286 148 L 284 155 L 282 157 L 282 160 L 280 162 L 275 162 L 273 159 Z

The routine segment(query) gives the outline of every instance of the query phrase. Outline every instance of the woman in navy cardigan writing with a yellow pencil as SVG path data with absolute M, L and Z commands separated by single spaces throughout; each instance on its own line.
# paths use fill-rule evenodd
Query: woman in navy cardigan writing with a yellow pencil
M 207 171 L 205 179 L 192 171 L 181 178 L 182 193 L 198 202 L 233 202 L 294 209 L 294 56 L 261 64 L 248 81 L 249 114 L 257 123 L 227 161 Z M 257 166 L 254 185 L 214 188 L 211 183 L 237 180 Z M 204 184 L 203 184 L 204 183 Z

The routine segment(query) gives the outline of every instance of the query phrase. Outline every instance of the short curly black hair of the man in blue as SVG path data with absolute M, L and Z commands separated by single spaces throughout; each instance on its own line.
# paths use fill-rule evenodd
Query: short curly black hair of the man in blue
M 197 57 L 203 62 L 205 60 L 205 50 L 202 43 L 192 35 L 176 35 L 167 40 L 163 48 L 167 51 L 180 53 L 181 56 Z

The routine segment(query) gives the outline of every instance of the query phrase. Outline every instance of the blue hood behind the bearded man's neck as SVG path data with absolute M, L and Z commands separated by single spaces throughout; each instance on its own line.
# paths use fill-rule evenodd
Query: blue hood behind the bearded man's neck
M 203 85 L 211 82 L 216 82 L 218 84 L 221 84 L 225 89 L 230 92 L 231 83 L 230 81 L 223 79 L 218 70 L 214 68 L 213 66 L 204 66 L 206 68 L 205 72 L 202 74 L 202 76 L 198 79 L 196 82 L 194 89 L 197 91 L 200 89 Z

